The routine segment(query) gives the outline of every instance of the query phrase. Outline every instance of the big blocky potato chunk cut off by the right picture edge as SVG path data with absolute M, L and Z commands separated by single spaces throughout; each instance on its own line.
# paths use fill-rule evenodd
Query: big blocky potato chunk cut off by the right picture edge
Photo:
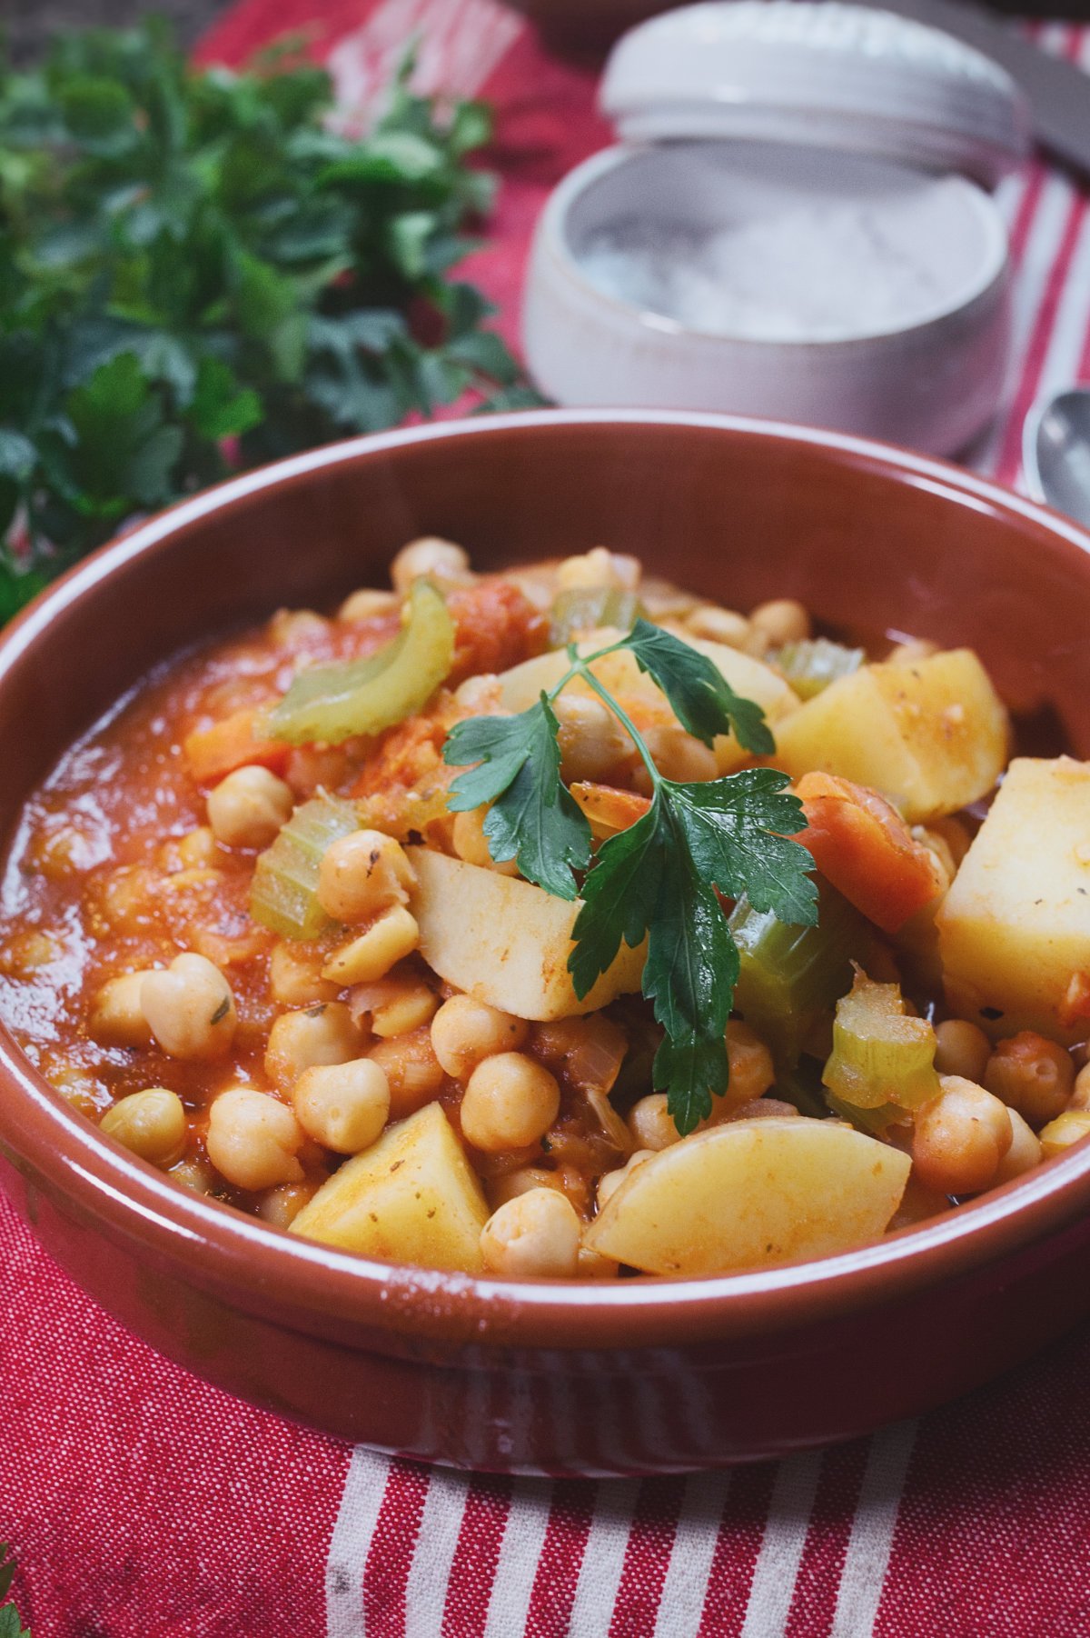
M 936 925 L 957 1017 L 992 1037 L 1090 1037 L 1065 1006 L 1090 975 L 1090 762 L 1011 762 Z

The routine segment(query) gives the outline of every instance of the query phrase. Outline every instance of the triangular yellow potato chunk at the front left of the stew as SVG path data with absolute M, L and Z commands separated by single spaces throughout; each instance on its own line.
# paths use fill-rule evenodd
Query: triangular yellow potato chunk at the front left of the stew
M 439 1104 L 390 1127 L 345 1161 L 291 1224 L 291 1233 L 360 1256 L 483 1273 L 488 1206 Z

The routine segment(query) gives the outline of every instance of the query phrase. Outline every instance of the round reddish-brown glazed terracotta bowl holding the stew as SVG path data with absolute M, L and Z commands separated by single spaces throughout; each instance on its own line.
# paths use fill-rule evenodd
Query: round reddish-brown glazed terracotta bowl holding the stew
M 1090 757 L 1090 537 L 954 467 L 686 414 L 534 413 L 360 439 L 175 508 L 0 640 L 0 814 L 154 662 L 381 581 L 411 536 L 502 565 L 606 542 L 746 608 L 972 644 Z M 1026 840 L 1033 845 L 1033 839 Z M 722 1279 L 504 1284 L 300 1243 L 126 1155 L 0 1030 L 0 1181 L 162 1353 L 254 1404 L 475 1468 L 671 1471 L 846 1438 L 1090 1310 L 1090 1145 L 846 1256 Z

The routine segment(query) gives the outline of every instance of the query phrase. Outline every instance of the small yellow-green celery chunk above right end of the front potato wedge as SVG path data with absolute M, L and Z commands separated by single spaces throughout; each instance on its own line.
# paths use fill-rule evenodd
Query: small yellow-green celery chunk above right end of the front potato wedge
M 853 1109 L 918 1109 L 938 1096 L 935 1030 L 912 1017 L 899 984 L 874 984 L 856 973 L 836 1002 L 833 1052 L 822 1081 Z

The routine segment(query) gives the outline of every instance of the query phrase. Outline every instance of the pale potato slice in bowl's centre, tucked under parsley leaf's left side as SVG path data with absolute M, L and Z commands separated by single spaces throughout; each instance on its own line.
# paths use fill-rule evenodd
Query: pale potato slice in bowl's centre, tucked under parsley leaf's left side
M 579 903 L 553 898 L 532 881 L 480 865 L 406 848 L 417 886 L 409 899 L 427 965 L 478 1001 L 519 1019 L 566 1019 L 594 1012 L 640 988 L 645 948 L 620 952 L 583 1001 L 568 975 L 571 929 Z

